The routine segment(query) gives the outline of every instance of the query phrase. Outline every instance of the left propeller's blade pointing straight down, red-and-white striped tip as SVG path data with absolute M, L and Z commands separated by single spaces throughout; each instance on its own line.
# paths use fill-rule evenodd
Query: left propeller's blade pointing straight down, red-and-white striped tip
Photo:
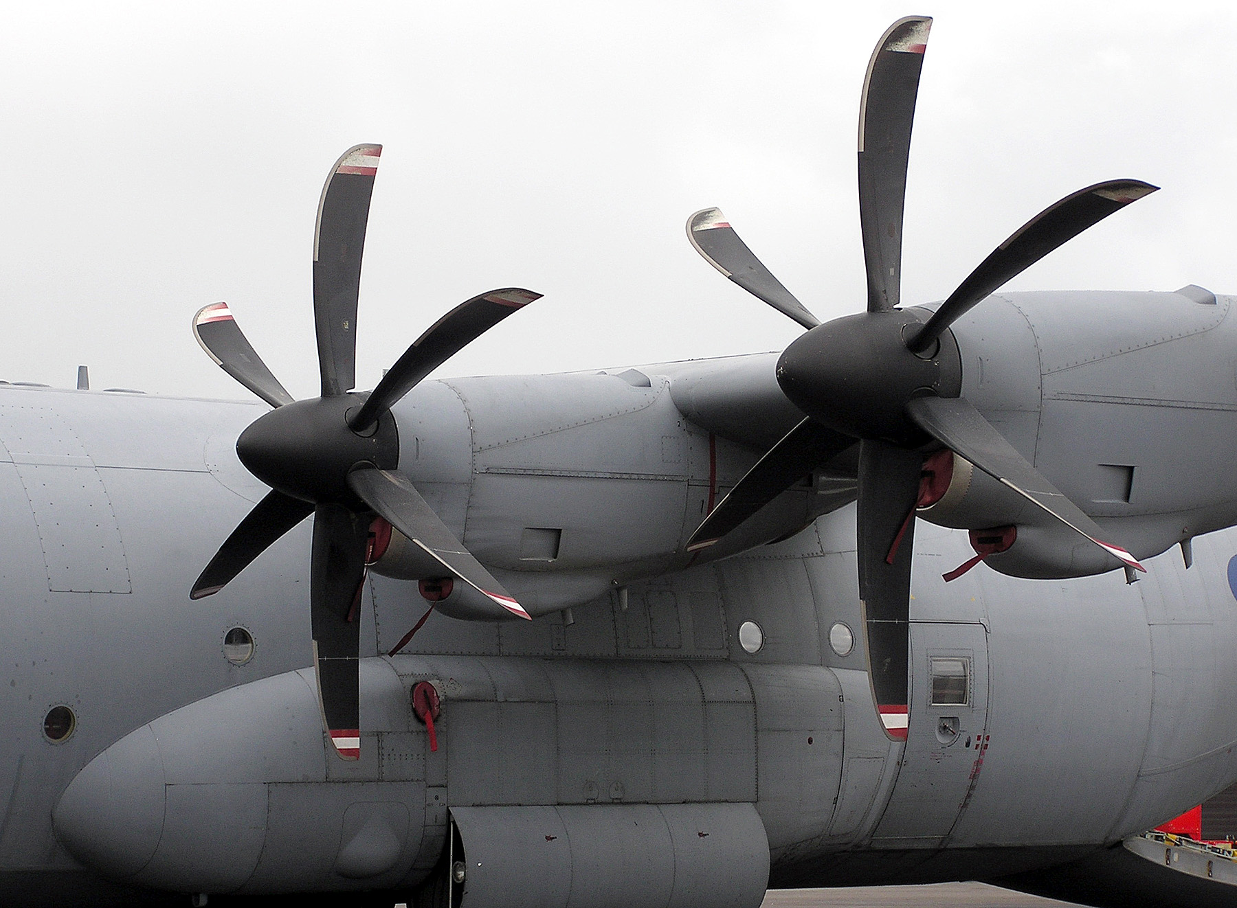
M 318 505 L 309 568 L 313 664 L 323 726 L 340 760 L 361 756 L 360 599 L 369 521 L 343 505 Z

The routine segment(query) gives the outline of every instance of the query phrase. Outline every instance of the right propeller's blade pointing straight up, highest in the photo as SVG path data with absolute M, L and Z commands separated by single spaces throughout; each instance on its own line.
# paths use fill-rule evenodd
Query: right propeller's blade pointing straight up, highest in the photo
M 888 312 L 902 286 L 902 209 L 910 126 L 931 20 L 899 19 L 872 52 L 858 113 L 858 216 L 867 311 Z

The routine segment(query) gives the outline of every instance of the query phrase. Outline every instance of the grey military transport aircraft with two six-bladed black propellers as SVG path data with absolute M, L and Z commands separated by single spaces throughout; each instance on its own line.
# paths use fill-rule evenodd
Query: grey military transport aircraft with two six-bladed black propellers
M 689 220 L 784 351 L 427 380 L 538 298 L 503 287 L 355 391 L 362 145 L 320 396 L 223 303 L 193 329 L 257 402 L 0 388 L 0 899 L 1030 886 L 1237 781 L 1233 299 L 998 292 L 1134 179 L 901 299 L 929 26 L 863 82 L 857 314 Z

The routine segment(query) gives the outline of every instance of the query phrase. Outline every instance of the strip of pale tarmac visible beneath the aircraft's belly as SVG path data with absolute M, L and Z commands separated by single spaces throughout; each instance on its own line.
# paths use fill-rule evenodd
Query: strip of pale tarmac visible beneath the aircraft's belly
M 1076 908 L 986 883 L 931 886 L 860 886 L 836 889 L 769 889 L 761 908 Z

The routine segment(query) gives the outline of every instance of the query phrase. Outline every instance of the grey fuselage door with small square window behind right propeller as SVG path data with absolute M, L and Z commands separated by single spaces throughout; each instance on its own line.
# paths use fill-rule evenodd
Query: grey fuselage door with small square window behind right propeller
M 983 625 L 912 621 L 907 745 L 877 840 L 897 839 L 907 847 L 943 844 L 978 784 L 987 717 Z

